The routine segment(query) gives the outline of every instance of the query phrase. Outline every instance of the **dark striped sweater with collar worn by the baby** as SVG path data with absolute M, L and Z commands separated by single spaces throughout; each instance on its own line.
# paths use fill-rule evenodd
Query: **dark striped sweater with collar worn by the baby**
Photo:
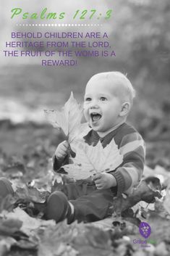
M 103 148 L 114 139 L 120 154 L 123 155 L 123 162 L 110 173 L 116 178 L 117 194 L 123 192 L 129 194 L 132 187 L 139 183 L 145 164 L 145 143 L 140 133 L 131 125 L 123 123 L 103 138 L 100 138 L 97 132 L 90 130 L 84 139 L 86 143 L 93 146 L 100 140 Z M 66 163 L 67 160 L 61 163 L 54 157 L 54 170 L 57 171 Z

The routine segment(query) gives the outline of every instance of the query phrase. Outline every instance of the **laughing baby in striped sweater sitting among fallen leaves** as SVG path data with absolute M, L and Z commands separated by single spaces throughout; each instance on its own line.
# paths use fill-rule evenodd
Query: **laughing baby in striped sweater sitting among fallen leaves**
M 99 73 L 90 78 L 83 108 L 91 129 L 83 139 L 93 146 L 101 141 L 103 148 L 114 140 L 123 161 L 109 173 L 96 173 L 93 178 L 67 184 L 67 197 L 61 191 L 52 193 L 46 207 L 47 219 L 54 219 L 56 223 L 64 218 L 68 223 L 102 220 L 111 215 L 113 198 L 122 193 L 129 194 L 139 183 L 145 164 L 145 144 L 135 128 L 126 123 L 134 97 L 135 90 L 122 73 Z M 56 172 L 68 163 L 68 152 L 67 141 L 57 146 L 54 154 Z M 7 190 L 3 178 L 0 179 L 1 186 Z

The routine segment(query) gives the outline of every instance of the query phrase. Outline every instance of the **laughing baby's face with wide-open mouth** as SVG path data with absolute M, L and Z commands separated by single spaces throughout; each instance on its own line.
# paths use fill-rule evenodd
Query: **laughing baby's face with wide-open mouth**
M 94 131 L 106 132 L 120 122 L 122 100 L 116 92 L 117 86 L 105 78 L 95 78 L 85 89 L 84 115 Z

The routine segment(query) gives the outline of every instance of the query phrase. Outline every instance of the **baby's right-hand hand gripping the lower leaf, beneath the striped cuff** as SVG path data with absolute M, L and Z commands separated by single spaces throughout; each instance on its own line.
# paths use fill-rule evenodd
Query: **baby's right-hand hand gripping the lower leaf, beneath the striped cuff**
M 110 189 L 112 186 L 116 186 L 116 178 L 110 173 L 96 173 L 93 176 L 95 186 L 97 189 Z

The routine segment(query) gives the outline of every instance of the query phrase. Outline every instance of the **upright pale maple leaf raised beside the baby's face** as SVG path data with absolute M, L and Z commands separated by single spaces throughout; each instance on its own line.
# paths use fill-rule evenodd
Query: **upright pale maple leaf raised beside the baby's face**
M 74 99 L 73 94 L 69 96 L 61 112 L 57 110 L 44 110 L 46 118 L 54 128 L 61 128 L 71 143 L 77 135 L 83 131 L 87 124 L 82 124 L 82 107 Z

